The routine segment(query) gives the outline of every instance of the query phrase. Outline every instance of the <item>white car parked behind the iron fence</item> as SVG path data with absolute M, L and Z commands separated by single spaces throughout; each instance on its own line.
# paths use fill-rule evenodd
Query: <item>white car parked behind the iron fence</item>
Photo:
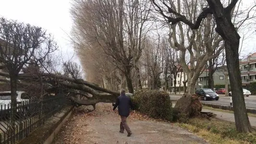
M 17 112 L 21 112 L 22 114 L 25 114 L 27 111 L 27 107 L 20 108 L 20 104 L 28 102 L 30 99 L 34 99 L 34 97 L 30 97 L 27 95 L 27 93 L 22 92 L 22 91 L 17 91 Z M 11 108 L 11 91 L 5 91 L 5 92 L 0 92 L 0 112 L 1 116 L 0 117 L 5 117 L 7 114 L 10 112 Z

